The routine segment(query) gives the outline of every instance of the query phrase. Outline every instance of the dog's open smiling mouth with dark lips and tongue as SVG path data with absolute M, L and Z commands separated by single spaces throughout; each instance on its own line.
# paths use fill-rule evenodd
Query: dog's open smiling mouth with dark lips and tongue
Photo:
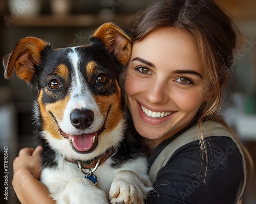
M 79 135 L 70 135 L 62 131 L 54 115 L 52 113 L 51 115 L 53 116 L 56 124 L 58 125 L 58 131 L 60 135 L 63 138 L 69 140 L 72 149 L 80 154 L 88 154 L 90 152 L 93 152 L 99 144 L 98 136 L 105 130 L 105 124 L 109 116 L 110 108 L 111 106 L 109 107 L 104 122 L 98 131 L 93 133 L 82 133 Z

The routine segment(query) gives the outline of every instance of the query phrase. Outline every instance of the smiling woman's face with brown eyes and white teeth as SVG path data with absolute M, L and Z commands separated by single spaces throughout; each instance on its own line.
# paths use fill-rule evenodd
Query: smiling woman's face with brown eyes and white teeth
M 136 130 L 154 140 L 152 148 L 188 125 L 211 96 L 193 40 L 172 28 L 134 43 L 124 88 Z

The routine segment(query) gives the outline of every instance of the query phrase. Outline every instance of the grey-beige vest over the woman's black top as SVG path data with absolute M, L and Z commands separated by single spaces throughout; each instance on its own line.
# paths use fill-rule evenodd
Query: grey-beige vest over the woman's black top
M 226 129 L 225 126 L 223 126 L 220 123 L 208 121 L 203 123 L 203 129 L 202 129 L 203 137 L 220 137 L 225 136 L 229 137 L 233 140 L 234 143 L 237 144 L 240 154 L 242 155 L 242 162 L 243 162 L 243 168 L 244 168 L 244 178 L 243 181 L 240 183 L 240 187 L 237 193 L 236 203 L 239 203 L 242 194 L 244 192 L 245 184 L 246 184 L 246 164 L 245 164 L 245 158 L 243 151 L 238 144 L 237 140 L 233 137 L 233 135 Z M 158 171 L 166 165 L 169 158 L 172 157 L 174 152 L 179 149 L 180 147 L 198 140 L 198 126 L 193 126 L 181 135 L 179 135 L 176 139 L 174 139 L 172 142 L 170 142 L 158 155 L 154 163 L 152 164 L 150 168 L 150 179 L 155 182 Z

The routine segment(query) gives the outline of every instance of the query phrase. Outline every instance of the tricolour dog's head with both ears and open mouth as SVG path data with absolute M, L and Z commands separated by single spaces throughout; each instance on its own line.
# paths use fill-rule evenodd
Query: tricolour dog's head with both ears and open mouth
M 37 87 L 43 135 L 71 159 L 101 154 L 122 139 L 118 79 L 130 59 L 131 40 L 113 23 L 101 25 L 89 40 L 90 45 L 52 49 L 27 37 L 3 59 L 6 79 L 15 70 Z

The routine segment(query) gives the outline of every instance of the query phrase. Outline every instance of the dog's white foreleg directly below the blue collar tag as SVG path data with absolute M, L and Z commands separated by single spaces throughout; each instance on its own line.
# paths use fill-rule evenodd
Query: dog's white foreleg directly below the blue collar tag
M 90 180 L 78 177 L 69 181 L 65 190 L 57 200 L 58 204 L 109 204 L 104 191 L 97 188 Z

